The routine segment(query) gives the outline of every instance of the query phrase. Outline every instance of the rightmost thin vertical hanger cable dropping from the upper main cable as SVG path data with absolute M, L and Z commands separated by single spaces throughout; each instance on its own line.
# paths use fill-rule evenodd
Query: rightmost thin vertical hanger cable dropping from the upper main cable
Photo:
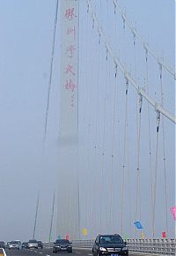
M 160 72 L 160 90 L 161 90 L 161 103 L 164 106 L 164 94 L 163 94 L 163 74 L 162 74 L 162 65 L 159 64 Z M 162 118 L 162 137 L 163 137 L 163 162 L 164 162 L 164 182 L 165 182 L 165 231 L 168 232 L 168 215 L 167 215 L 167 178 L 166 178 L 166 159 L 165 159 L 165 121 L 164 117 Z

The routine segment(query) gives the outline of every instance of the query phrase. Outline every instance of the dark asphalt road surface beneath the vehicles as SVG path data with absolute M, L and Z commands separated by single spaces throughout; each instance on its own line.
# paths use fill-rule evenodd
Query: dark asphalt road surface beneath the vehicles
M 33 250 L 5 250 L 7 256 L 92 256 L 91 250 L 73 249 L 73 253 L 53 253 L 52 249 L 33 249 Z M 135 254 L 129 254 L 136 256 Z M 139 254 L 138 254 L 139 255 Z

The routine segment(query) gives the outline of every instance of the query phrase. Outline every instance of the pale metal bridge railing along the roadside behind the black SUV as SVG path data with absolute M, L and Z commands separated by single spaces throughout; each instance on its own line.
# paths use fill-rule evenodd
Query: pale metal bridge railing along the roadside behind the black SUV
M 176 239 L 127 239 L 129 252 L 176 255 Z M 73 247 L 91 249 L 94 240 L 73 240 Z

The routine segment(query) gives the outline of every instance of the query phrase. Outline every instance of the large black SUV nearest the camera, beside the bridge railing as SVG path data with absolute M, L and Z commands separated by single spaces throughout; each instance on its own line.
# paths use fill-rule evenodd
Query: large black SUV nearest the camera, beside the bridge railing
M 124 255 L 128 256 L 127 243 L 120 235 L 99 235 L 92 247 L 92 255 Z

